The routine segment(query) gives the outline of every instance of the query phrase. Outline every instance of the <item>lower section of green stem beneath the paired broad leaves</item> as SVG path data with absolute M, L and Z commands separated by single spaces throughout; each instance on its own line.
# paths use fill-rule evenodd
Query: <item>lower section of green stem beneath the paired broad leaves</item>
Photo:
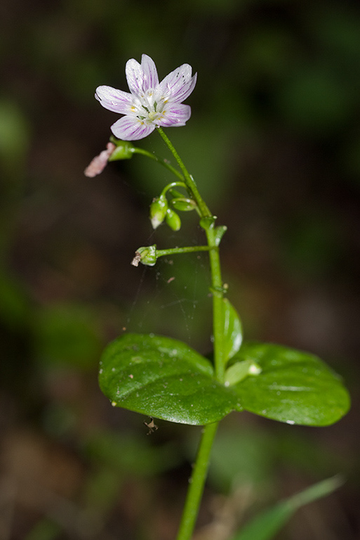
M 190 485 L 187 491 L 177 540 L 189 540 L 192 536 L 199 513 L 199 506 L 208 472 L 209 458 L 217 429 L 218 422 L 208 424 L 203 428 L 196 462 L 192 470 L 192 477 L 189 480 Z

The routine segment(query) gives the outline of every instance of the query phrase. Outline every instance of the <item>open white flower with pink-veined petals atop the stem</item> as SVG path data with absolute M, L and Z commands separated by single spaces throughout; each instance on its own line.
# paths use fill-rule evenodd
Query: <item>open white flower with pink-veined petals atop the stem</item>
M 134 58 L 126 63 L 129 92 L 111 86 L 98 86 L 95 98 L 105 109 L 125 115 L 112 124 L 112 132 L 123 141 L 143 139 L 156 126 L 185 126 L 191 115 L 184 101 L 194 90 L 196 73 L 182 64 L 159 83 L 154 60 L 142 55 L 141 64 Z

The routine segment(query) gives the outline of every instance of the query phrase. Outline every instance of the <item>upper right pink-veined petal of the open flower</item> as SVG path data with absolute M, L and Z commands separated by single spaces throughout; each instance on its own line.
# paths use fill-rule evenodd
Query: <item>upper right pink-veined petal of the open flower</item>
M 164 101 L 177 101 L 181 103 L 194 90 L 196 77 L 197 73 L 192 77 L 191 65 L 180 65 L 180 68 L 166 75 L 161 81 L 156 89 L 156 97 L 162 97 Z

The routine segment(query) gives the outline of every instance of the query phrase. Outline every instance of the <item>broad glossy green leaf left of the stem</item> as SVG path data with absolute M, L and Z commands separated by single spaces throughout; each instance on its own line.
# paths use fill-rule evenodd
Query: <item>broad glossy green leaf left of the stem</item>
M 241 411 L 239 395 L 213 378 L 213 366 L 185 343 L 124 334 L 100 362 L 100 388 L 114 406 L 183 424 L 205 425 Z

